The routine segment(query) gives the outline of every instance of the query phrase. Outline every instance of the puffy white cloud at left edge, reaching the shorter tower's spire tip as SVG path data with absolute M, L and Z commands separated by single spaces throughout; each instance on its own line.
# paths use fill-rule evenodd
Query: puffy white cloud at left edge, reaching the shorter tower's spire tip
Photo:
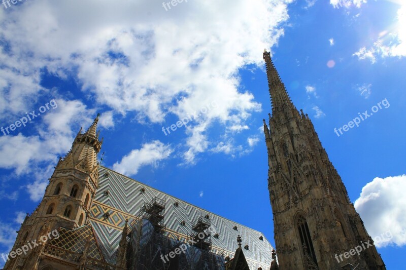
M 86 106 L 77 100 L 64 101 L 57 99 L 58 107 L 33 119 L 27 125 L 38 135 L 24 136 L 24 127 L 16 130 L 16 134 L 0 137 L 0 167 L 14 169 L 17 175 L 35 172 L 42 162 L 55 162 L 57 155 L 64 155 L 71 146 L 74 136 L 79 130 L 73 132 L 71 126 L 79 123 L 92 122 Z M 16 118 L 18 120 L 18 118 Z

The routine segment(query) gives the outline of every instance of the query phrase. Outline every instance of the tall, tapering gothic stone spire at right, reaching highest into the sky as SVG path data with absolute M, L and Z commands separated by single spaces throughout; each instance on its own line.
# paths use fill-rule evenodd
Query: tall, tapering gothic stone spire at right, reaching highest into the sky
M 263 127 L 279 265 L 386 269 L 311 120 L 293 105 L 266 50 L 263 59 L 272 100 L 269 129 L 265 120 Z M 354 255 L 357 246 L 362 250 Z

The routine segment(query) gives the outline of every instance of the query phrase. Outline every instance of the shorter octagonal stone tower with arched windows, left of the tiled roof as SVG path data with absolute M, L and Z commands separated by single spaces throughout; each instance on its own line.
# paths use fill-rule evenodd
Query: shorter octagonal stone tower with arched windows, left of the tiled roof
M 72 149 L 59 159 L 44 198 L 31 216 L 27 214 L 12 250 L 32 240 L 43 242 L 41 237 L 55 228 L 74 229 L 87 223 L 97 189 L 97 153 L 103 143 L 96 134 L 98 117 L 85 133 L 82 134 L 80 129 Z M 9 256 L 4 269 L 36 269 L 42 246 L 33 247 L 27 254 L 18 254 L 14 258 Z

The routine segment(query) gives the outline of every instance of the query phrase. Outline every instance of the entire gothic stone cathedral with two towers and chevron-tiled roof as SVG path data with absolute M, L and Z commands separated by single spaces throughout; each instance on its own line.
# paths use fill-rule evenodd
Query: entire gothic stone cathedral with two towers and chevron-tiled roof
M 255 229 L 101 166 L 97 116 L 59 159 L 4 270 L 386 269 L 308 115 L 292 104 L 270 53 L 263 58 L 276 251 Z M 353 254 L 360 243 L 368 247 Z

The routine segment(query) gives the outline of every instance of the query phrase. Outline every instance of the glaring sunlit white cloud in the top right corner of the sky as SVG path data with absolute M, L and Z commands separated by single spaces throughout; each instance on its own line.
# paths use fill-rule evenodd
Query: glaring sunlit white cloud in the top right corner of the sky
M 400 4 L 400 3 L 399 3 Z M 405 57 L 406 56 L 406 4 L 397 11 L 397 25 L 394 30 L 384 30 L 380 32 L 378 40 L 372 47 L 366 49 L 362 47 L 353 56 L 358 59 L 369 59 L 371 63 L 376 63 L 378 56 L 385 57 Z

